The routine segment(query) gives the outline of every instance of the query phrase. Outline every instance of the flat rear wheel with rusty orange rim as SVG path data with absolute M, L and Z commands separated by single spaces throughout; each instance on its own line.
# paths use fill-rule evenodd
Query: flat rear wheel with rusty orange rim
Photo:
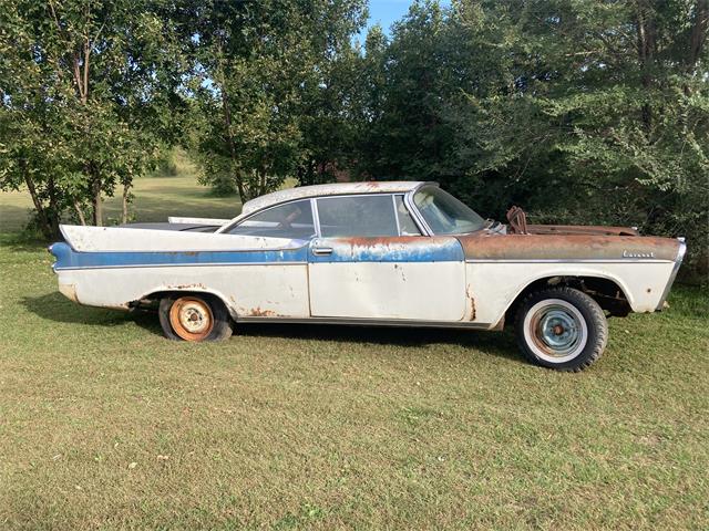
M 163 332 L 171 340 L 218 341 L 232 335 L 229 313 L 208 293 L 165 296 L 158 313 Z

